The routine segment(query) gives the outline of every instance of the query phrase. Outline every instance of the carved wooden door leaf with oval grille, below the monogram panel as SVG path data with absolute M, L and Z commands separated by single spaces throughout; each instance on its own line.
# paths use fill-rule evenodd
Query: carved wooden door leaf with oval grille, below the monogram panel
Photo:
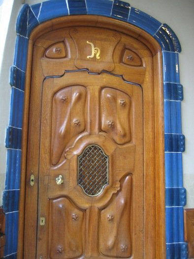
M 41 117 L 39 214 L 46 226 L 38 226 L 37 253 L 141 257 L 141 88 L 107 73 L 65 73 L 44 81 Z

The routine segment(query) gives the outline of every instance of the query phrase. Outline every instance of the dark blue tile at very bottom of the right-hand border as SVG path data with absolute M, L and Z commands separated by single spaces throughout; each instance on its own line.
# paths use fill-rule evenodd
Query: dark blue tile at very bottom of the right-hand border
M 187 243 L 166 244 L 166 259 L 188 259 Z

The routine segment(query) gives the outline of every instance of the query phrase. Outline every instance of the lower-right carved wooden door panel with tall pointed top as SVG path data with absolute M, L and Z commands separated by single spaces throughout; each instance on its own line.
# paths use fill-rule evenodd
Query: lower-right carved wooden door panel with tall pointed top
M 131 256 L 130 237 L 130 201 L 132 190 L 132 176 L 128 175 L 121 180 L 121 190 L 111 203 L 100 213 L 99 248 L 100 252 L 109 257 Z M 110 215 L 116 214 L 114 221 Z M 108 218 L 107 218 L 107 215 Z M 111 224 L 107 224 L 107 220 Z

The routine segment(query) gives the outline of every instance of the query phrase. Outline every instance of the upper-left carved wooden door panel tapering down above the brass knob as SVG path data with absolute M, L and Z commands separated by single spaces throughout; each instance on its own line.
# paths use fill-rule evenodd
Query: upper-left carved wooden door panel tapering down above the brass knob
M 68 86 L 53 97 L 51 163 L 56 165 L 71 138 L 85 130 L 86 88 Z

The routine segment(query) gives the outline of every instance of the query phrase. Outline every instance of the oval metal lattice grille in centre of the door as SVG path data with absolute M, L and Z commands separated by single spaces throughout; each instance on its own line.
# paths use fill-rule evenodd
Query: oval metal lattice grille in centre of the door
M 89 196 L 99 195 L 108 185 L 108 156 L 97 145 L 78 156 L 78 184 Z

